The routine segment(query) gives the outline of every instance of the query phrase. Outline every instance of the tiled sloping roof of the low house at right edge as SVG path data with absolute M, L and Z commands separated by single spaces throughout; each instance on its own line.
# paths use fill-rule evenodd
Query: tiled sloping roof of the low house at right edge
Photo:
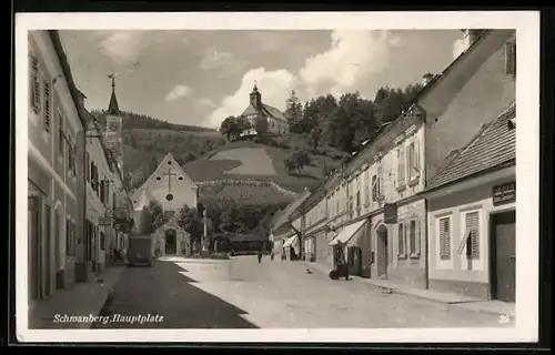
M 516 131 L 509 128 L 509 121 L 515 116 L 516 110 L 513 103 L 497 119 L 485 124 L 466 148 L 461 150 L 458 155 L 430 182 L 426 190 L 440 187 L 514 160 Z

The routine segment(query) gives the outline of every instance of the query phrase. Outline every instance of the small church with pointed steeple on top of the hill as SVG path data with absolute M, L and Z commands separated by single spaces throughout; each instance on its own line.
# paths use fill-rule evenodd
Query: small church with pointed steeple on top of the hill
M 262 94 L 256 88 L 256 82 L 254 82 L 254 88 L 249 94 L 249 105 L 241 113 L 241 116 L 251 123 L 251 129 L 244 131 L 241 135 L 256 134 L 255 123 L 258 118 L 263 118 L 268 121 L 268 132 L 275 134 L 289 133 L 289 122 L 283 112 L 262 102 Z

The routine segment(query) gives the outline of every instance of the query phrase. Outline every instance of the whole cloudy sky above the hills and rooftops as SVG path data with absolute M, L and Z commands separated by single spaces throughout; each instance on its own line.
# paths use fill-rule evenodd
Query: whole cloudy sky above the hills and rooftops
M 171 123 L 218 128 L 249 104 L 254 82 L 280 110 L 301 101 L 441 73 L 463 50 L 460 30 L 62 30 L 89 110 L 107 109 L 117 73 L 120 109 Z

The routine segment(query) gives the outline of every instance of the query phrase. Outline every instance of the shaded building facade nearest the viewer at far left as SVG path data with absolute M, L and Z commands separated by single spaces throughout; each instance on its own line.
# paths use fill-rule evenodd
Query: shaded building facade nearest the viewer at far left
M 82 237 L 79 103 L 56 34 L 30 31 L 28 105 L 28 287 L 30 303 L 74 281 Z

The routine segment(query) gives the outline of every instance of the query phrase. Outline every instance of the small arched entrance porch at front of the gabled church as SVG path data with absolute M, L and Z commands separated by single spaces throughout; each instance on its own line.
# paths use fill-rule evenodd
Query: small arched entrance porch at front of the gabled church
M 188 256 L 191 254 L 191 239 L 188 232 L 172 219 L 154 232 L 154 251 L 161 256 Z

